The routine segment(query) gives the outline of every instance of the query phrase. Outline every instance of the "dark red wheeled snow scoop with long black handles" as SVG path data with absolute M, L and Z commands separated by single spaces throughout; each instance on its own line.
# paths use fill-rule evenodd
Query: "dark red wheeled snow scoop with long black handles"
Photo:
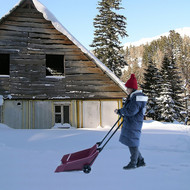
M 121 127 L 123 121 L 117 126 L 115 131 L 111 133 L 117 123 L 121 120 L 121 116 L 115 122 L 113 127 L 109 130 L 106 136 L 102 139 L 102 141 L 97 142 L 93 147 L 89 149 L 85 149 L 79 152 L 66 154 L 61 159 L 61 165 L 59 165 L 55 172 L 66 172 L 66 171 L 83 171 L 84 173 L 89 173 L 91 171 L 91 166 L 94 163 L 98 154 L 103 150 L 106 144 L 110 141 L 116 131 Z M 109 135 L 109 137 L 108 137 Z M 107 139 L 107 141 L 105 141 Z M 105 143 L 102 145 L 102 143 Z M 102 146 L 101 146 L 102 145 Z

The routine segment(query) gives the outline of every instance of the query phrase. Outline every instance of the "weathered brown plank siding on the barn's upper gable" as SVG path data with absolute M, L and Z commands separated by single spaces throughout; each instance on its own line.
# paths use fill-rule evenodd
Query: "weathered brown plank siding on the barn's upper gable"
M 0 23 L 0 53 L 10 54 L 10 76 L 0 76 L 1 95 L 11 94 L 13 99 L 97 99 L 126 95 L 32 7 L 32 1 L 25 1 Z M 46 54 L 64 55 L 64 77 L 46 77 Z

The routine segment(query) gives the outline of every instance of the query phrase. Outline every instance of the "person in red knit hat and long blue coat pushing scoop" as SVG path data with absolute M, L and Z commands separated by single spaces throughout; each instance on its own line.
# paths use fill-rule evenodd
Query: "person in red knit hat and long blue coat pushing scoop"
M 135 75 L 132 74 L 125 84 L 128 97 L 123 108 L 116 109 L 115 113 L 123 117 L 123 127 L 119 141 L 129 147 L 131 160 L 123 169 L 133 169 L 145 166 L 144 158 L 139 152 L 141 129 L 146 111 L 148 97 L 138 89 Z

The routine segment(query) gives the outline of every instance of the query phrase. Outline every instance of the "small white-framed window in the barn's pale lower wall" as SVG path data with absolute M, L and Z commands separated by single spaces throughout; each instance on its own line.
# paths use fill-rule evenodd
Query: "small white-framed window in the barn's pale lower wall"
M 66 105 L 55 106 L 55 123 L 69 123 L 70 108 Z

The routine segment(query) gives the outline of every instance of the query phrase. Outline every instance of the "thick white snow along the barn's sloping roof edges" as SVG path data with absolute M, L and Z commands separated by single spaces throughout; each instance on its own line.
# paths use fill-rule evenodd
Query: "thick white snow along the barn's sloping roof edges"
M 25 0 L 20 0 L 18 4 L 2 19 L 8 16 L 11 12 L 13 12 L 21 3 Z M 86 54 L 89 58 L 91 58 L 94 63 L 103 70 L 109 78 L 111 78 L 124 92 L 126 92 L 125 86 L 123 82 L 108 68 L 106 67 L 96 56 L 94 56 L 90 51 L 88 51 L 57 19 L 56 17 L 38 0 L 32 0 L 36 9 L 41 12 L 44 18 L 48 21 L 51 21 L 53 26 L 62 34 L 67 36 L 81 51 Z M 1 20 L 2 20 L 1 19 Z M 1 22 L 0 20 L 0 22 Z

